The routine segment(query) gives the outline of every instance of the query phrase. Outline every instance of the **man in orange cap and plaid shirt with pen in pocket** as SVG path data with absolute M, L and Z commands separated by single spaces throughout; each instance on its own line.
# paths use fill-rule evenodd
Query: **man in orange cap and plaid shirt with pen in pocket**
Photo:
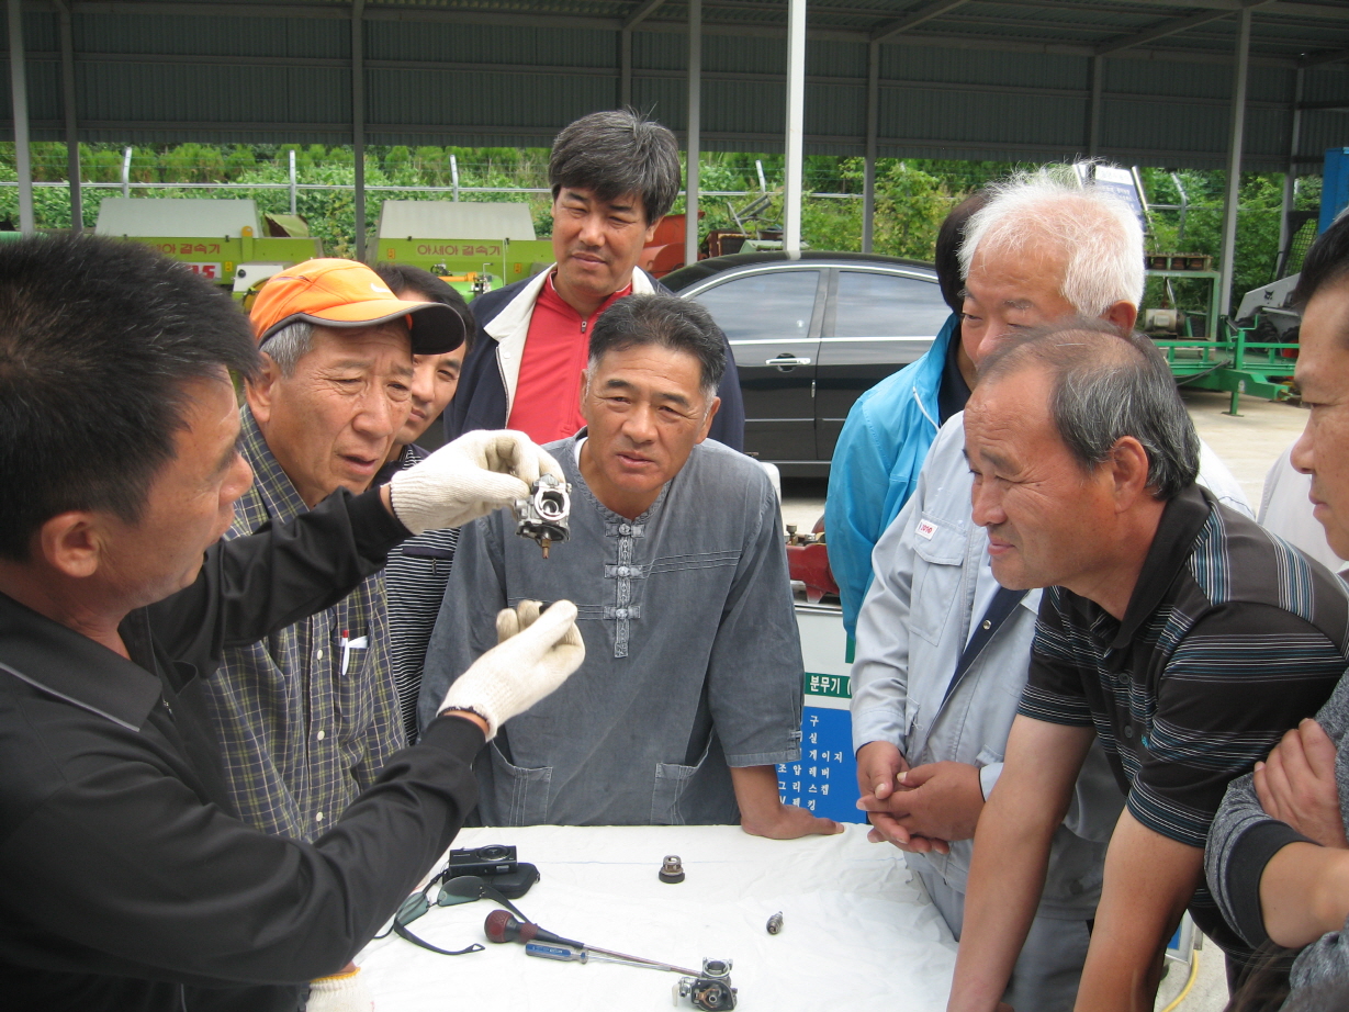
M 459 347 L 449 306 L 399 301 L 364 264 L 308 260 L 251 312 L 262 371 L 244 387 L 254 486 L 227 538 L 366 491 L 411 407 L 413 359 Z M 314 839 L 405 745 L 383 578 L 264 641 L 225 650 L 206 685 L 227 788 L 246 822 Z

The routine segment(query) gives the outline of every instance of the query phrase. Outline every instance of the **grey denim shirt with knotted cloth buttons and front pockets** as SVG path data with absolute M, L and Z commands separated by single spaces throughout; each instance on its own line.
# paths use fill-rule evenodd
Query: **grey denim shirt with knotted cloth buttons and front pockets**
M 585 663 L 478 758 L 488 826 L 707 824 L 739 818 L 728 766 L 800 757 L 801 648 L 778 505 L 762 468 L 707 440 L 646 513 L 591 495 L 576 441 L 571 541 L 545 560 L 503 510 L 463 528 L 420 716 L 496 642 L 496 611 L 577 606 Z

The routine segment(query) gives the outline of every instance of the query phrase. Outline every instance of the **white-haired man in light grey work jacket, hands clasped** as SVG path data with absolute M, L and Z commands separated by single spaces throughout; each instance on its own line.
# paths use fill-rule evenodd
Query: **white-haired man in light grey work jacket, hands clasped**
M 990 188 L 966 225 L 960 262 L 960 336 L 975 367 L 1027 327 L 1081 314 L 1128 332 L 1137 316 L 1137 219 L 1103 192 L 1048 171 Z M 1206 464 L 1201 480 L 1249 514 L 1221 461 L 1210 453 Z M 956 939 L 974 830 L 1002 770 L 1040 603 L 1037 590 L 1006 591 L 993 578 L 971 487 L 963 414 L 954 414 L 877 542 L 853 667 L 853 741 L 871 839 L 912 855 Z M 1121 804 L 1094 749 L 1054 834 L 1045 889 L 1006 986 L 1016 1008 L 1072 1008 Z

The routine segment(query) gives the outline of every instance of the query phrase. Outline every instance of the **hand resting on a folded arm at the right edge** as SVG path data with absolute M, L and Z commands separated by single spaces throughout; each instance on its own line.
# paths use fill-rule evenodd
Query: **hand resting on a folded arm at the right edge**
M 1340 788 L 1336 780 L 1336 743 L 1325 729 L 1307 718 L 1256 764 L 1256 796 L 1279 822 L 1325 847 L 1349 849 Z

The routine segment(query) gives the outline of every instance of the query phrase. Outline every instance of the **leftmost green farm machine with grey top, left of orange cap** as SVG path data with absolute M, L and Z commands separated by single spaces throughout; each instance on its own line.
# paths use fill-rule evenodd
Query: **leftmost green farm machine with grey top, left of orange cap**
M 263 227 L 266 223 L 266 228 Z M 147 243 L 235 298 L 291 264 L 324 255 L 298 215 L 258 216 L 254 200 L 108 197 L 96 235 Z

